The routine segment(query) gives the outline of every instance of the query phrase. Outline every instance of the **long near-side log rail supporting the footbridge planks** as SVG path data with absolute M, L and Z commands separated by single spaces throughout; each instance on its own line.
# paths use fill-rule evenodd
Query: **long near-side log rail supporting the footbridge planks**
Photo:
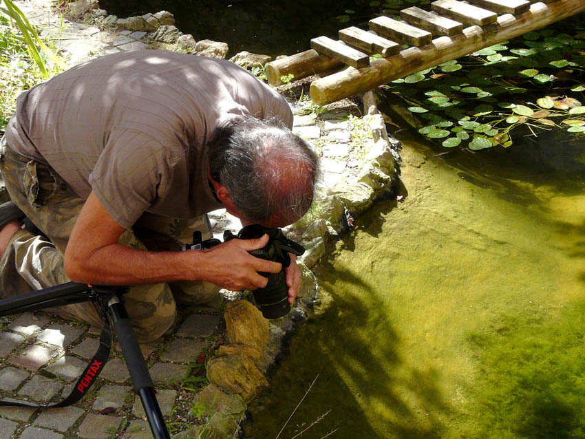
M 370 63 L 370 67 L 348 68 L 327 78 L 313 81 L 310 95 L 315 103 L 326 105 L 470 54 L 483 47 L 543 28 L 582 11 L 585 11 L 583 0 L 557 0 L 548 5 L 535 3 L 529 12 L 519 17 L 504 14 L 498 17 L 496 23 L 483 28 L 470 26 L 461 34 L 440 36 L 429 45 L 409 47 L 389 58 L 376 59 Z

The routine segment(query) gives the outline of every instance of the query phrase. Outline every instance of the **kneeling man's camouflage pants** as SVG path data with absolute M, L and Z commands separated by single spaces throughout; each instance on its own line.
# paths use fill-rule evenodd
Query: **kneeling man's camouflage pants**
M 2 139 L 0 171 L 10 198 L 45 237 L 17 231 L 0 259 L 0 297 L 19 295 L 70 281 L 63 268 L 63 253 L 85 200 L 78 197 L 55 171 L 41 162 L 12 151 Z M 211 237 L 206 215 L 173 219 L 145 213 L 119 243 L 142 250 L 178 250 L 191 242 L 194 230 Z M 171 327 L 176 303 L 206 303 L 219 287 L 201 281 L 140 285 L 125 295 L 126 308 L 141 342 L 153 341 Z M 93 303 L 77 303 L 50 310 L 61 317 L 101 325 Z

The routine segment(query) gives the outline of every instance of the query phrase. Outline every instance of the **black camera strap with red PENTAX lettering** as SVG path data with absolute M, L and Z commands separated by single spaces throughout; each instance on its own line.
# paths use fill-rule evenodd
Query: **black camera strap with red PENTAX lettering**
M 83 398 L 89 387 L 96 382 L 96 378 L 103 370 L 107 358 L 109 357 L 109 351 L 111 348 L 111 327 L 109 325 L 109 321 L 106 317 L 104 317 L 104 326 L 102 328 L 102 333 L 100 335 L 100 345 L 94 358 L 89 360 L 89 364 L 85 367 L 85 370 L 75 383 L 71 393 L 67 398 L 63 399 L 60 403 L 50 404 L 50 405 L 38 405 L 32 403 L 18 403 L 12 401 L 0 401 L 0 407 L 32 407 L 32 408 L 43 408 L 43 409 L 51 409 L 57 407 L 66 407 L 67 405 L 75 404 L 78 400 Z

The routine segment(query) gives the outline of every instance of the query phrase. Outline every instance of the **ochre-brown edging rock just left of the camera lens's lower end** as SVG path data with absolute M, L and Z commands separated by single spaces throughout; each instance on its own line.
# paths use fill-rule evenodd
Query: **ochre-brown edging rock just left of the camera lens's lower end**
M 262 352 L 268 343 L 268 320 L 252 303 L 238 300 L 228 303 L 224 313 L 230 343 L 248 345 Z

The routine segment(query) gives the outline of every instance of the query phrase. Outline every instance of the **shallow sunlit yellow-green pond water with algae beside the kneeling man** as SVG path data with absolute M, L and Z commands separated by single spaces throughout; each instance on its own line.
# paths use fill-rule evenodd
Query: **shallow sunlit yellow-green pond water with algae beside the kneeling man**
M 407 196 L 321 264 L 244 437 L 585 438 L 584 142 L 401 140 Z

